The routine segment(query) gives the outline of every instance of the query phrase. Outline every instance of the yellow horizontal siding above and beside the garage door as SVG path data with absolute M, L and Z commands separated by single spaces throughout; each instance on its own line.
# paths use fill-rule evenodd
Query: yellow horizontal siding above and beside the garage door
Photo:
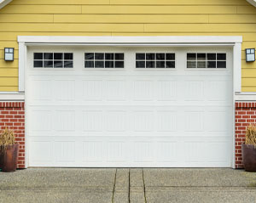
M 17 36 L 242 36 L 242 91 L 256 92 L 256 8 L 246 0 L 13 0 L 0 10 L 0 91 L 18 90 Z M 3 48 L 15 48 L 15 61 Z

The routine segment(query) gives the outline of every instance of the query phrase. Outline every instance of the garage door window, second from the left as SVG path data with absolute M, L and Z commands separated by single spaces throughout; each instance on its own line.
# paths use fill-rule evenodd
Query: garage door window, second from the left
M 123 53 L 85 53 L 85 68 L 124 68 L 125 54 Z

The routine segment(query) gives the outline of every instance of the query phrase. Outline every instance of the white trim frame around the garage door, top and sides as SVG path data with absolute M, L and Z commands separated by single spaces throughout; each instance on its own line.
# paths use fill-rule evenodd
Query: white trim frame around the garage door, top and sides
M 77 45 L 77 46 L 157 46 L 157 47 L 233 47 L 233 163 L 235 168 L 235 93 L 241 92 L 241 42 L 242 37 L 40 37 L 19 36 L 19 92 L 25 92 L 26 50 L 38 45 Z M 28 164 L 26 142 L 26 167 Z

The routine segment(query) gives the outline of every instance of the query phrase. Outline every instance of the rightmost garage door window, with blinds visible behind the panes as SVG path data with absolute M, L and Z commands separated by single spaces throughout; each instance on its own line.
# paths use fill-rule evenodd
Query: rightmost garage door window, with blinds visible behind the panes
M 188 53 L 188 69 L 226 68 L 226 54 L 223 53 Z

